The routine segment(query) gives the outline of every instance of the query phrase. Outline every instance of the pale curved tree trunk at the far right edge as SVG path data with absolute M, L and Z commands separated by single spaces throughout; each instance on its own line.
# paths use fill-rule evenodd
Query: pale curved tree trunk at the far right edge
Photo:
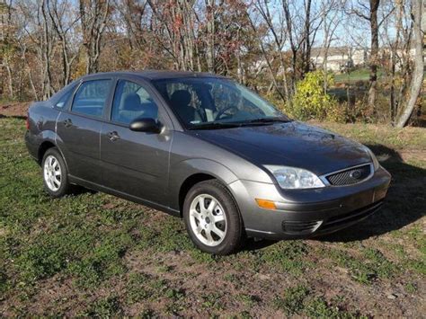
M 413 0 L 413 29 L 414 29 L 414 70 L 411 83 L 410 98 L 396 123 L 396 127 L 404 128 L 413 114 L 415 103 L 422 91 L 423 84 L 423 34 L 422 34 L 422 0 Z

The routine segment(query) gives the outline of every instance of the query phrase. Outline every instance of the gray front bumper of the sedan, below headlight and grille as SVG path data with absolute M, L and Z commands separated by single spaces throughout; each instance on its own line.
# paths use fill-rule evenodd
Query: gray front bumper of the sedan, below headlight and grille
M 351 226 L 383 204 L 391 175 L 380 167 L 365 182 L 315 190 L 283 191 L 273 183 L 238 180 L 229 184 L 248 236 L 269 239 L 308 238 Z M 277 209 L 260 208 L 269 199 Z

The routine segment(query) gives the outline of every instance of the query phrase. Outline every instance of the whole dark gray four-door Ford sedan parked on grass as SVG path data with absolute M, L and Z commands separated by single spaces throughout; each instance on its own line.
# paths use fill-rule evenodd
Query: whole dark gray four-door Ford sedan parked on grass
M 368 147 L 217 75 L 86 75 L 33 103 L 27 128 L 49 195 L 79 185 L 183 217 L 208 253 L 351 226 L 390 182 Z

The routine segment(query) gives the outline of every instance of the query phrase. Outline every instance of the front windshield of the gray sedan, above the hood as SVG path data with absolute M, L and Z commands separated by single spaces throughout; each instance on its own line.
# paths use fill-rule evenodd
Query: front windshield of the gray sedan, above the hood
M 227 79 L 185 77 L 156 80 L 154 85 L 186 128 L 288 120 L 271 103 Z

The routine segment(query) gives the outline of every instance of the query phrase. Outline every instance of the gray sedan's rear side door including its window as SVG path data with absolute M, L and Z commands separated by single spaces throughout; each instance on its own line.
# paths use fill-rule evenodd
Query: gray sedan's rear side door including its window
M 82 82 L 69 110 L 57 121 L 58 146 L 67 161 L 69 173 L 88 182 L 102 182 L 100 135 L 105 107 L 111 99 L 112 79 Z

